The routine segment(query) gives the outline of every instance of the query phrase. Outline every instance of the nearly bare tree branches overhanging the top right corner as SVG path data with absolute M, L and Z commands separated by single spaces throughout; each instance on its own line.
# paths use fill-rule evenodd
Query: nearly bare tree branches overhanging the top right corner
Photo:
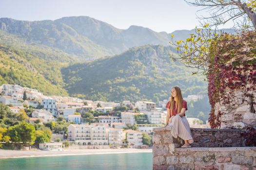
M 201 7 L 210 13 L 209 16 L 199 17 L 218 26 L 233 21 L 239 30 L 256 29 L 256 0 L 185 0 L 192 6 Z

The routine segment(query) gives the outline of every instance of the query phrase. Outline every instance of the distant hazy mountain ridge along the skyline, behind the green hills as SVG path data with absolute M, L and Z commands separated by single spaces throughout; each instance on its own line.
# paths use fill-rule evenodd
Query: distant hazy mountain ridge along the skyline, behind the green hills
M 0 30 L 24 38 L 28 44 L 57 48 L 91 61 L 146 44 L 168 45 L 167 33 L 131 26 L 121 30 L 91 17 L 63 17 L 57 20 L 20 21 L 0 18 Z

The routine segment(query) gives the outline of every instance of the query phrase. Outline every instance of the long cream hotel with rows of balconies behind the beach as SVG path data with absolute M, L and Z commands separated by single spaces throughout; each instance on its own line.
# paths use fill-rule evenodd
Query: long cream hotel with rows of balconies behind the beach
M 108 145 L 108 129 L 103 124 L 70 124 L 68 140 L 79 145 Z

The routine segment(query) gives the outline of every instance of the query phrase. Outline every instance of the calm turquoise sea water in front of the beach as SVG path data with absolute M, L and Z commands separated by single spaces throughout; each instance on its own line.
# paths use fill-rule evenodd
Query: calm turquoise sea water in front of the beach
M 152 170 L 152 153 L 0 159 L 0 170 Z

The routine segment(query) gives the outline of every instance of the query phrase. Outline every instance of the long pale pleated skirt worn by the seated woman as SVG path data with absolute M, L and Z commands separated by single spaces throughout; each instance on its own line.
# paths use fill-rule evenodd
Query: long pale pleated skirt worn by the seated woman
M 171 128 L 172 136 L 175 138 L 179 136 L 183 140 L 192 139 L 190 126 L 185 116 L 176 115 L 172 118 L 172 123 L 169 122 L 167 126 Z

